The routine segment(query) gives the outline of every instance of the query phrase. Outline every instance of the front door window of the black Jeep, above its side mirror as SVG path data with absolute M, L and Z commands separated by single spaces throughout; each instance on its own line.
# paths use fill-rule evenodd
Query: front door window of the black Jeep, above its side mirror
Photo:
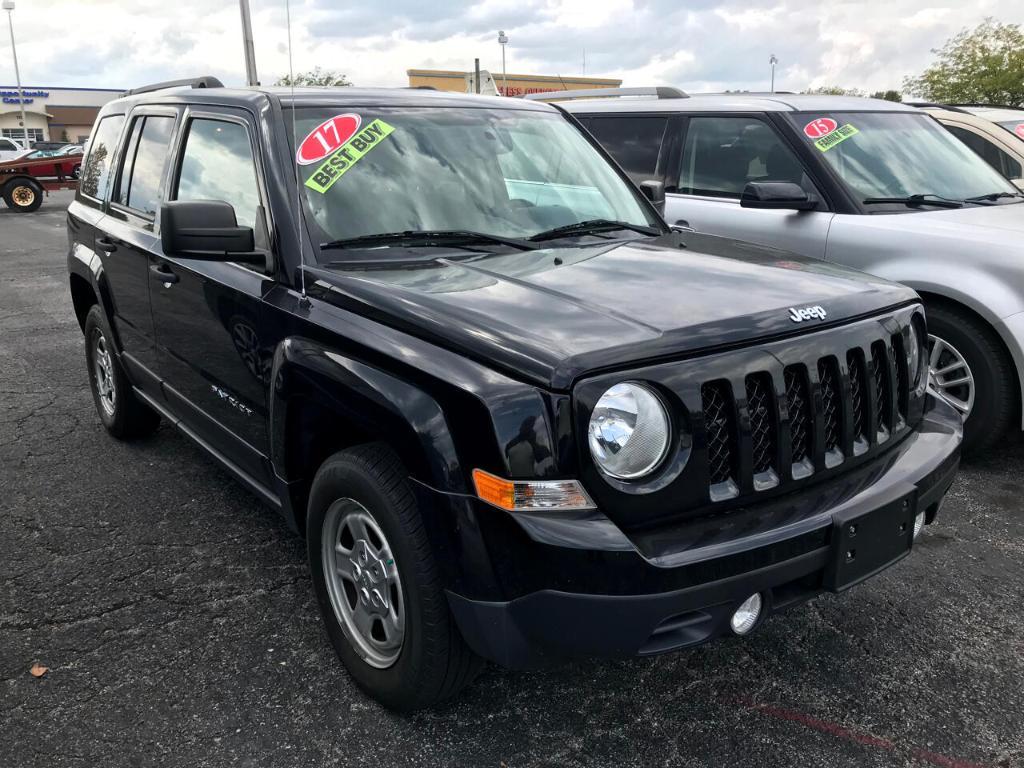
M 202 118 L 189 123 L 176 199 L 229 203 L 240 226 L 255 225 L 259 185 L 245 126 Z

